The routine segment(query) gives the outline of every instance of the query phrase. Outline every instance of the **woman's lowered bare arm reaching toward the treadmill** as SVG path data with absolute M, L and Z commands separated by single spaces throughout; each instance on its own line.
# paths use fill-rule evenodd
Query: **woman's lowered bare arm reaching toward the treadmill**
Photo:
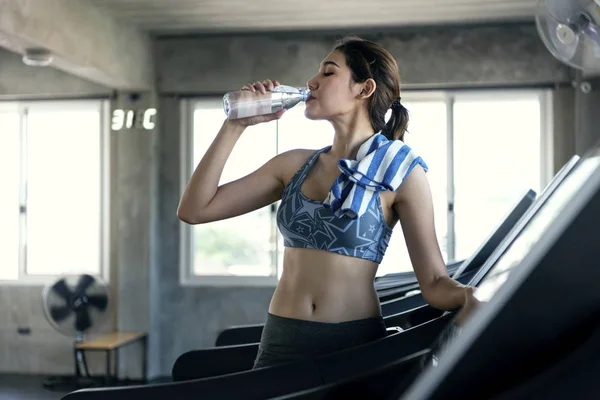
M 467 286 L 448 275 L 435 232 L 429 182 L 421 166 L 417 165 L 396 190 L 394 209 L 425 301 L 440 310 L 463 306 Z

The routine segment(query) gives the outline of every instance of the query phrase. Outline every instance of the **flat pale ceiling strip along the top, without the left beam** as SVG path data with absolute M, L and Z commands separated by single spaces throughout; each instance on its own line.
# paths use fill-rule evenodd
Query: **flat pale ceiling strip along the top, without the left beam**
M 89 0 L 153 34 L 533 20 L 536 0 Z M 368 4 L 368 5 L 367 5 Z

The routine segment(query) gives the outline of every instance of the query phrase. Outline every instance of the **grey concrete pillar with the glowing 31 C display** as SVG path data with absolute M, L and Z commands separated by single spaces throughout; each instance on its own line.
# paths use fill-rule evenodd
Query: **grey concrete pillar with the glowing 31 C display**
M 111 110 L 148 108 L 156 108 L 152 92 L 119 93 L 111 102 Z M 153 243 L 158 232 L 157 143 L 157 128 L 134 126 L 111 132 L 111 286 L 121 332 L 149 331 L 150 270 L 156 262 Z M 121 378 L 142 376 L 140 344 L 123 348 L 119 361 Z

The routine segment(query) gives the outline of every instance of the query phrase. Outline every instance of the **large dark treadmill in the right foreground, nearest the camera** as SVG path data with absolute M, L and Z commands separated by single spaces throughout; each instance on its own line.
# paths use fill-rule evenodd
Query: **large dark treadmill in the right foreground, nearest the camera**
M 419 361 L 274 399 L 600 398 L 599 229 L 600 148 L 477 274 L 482 304 L 464 327 L 452 317 L 428 351 L 413 354 Z

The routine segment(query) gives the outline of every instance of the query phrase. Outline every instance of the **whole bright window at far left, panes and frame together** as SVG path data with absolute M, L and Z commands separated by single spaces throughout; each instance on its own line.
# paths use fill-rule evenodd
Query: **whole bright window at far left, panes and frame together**
M 0 105 L 0 280 L 105 275 L 105 109 L 98 101 Z

